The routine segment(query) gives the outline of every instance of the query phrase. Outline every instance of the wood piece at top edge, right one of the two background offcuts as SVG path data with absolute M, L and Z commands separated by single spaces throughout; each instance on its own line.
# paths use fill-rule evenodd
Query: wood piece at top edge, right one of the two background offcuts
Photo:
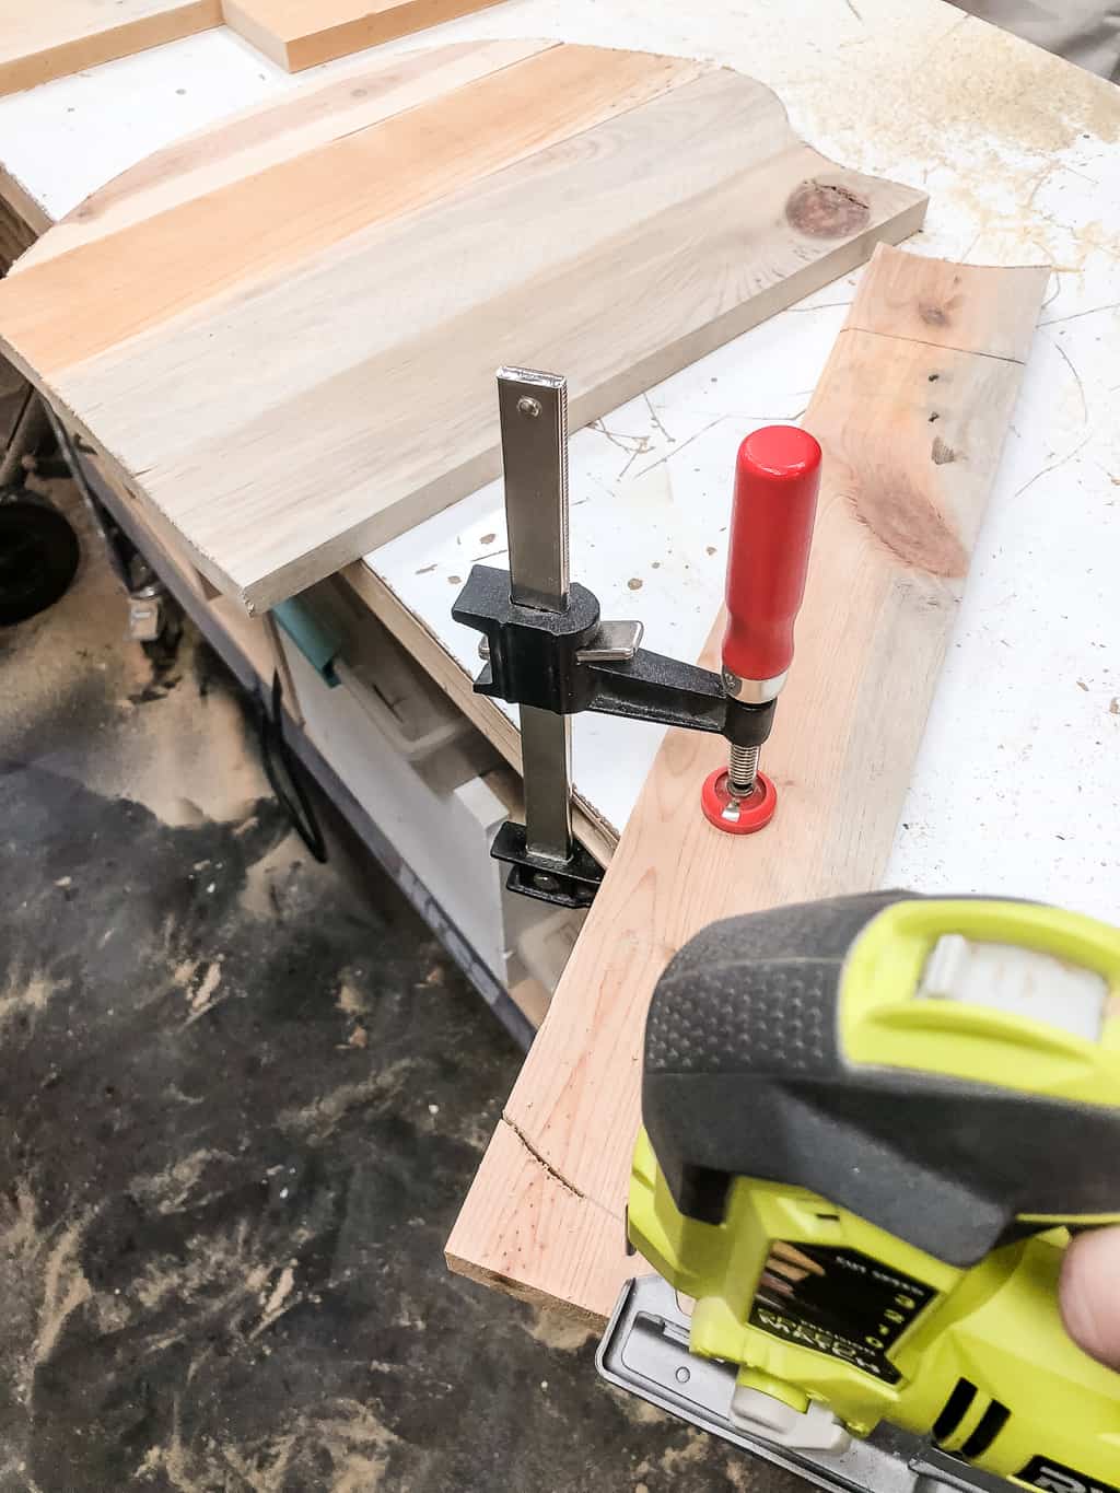
M 223 0 L 225 24 L 290 73 L 430 25 L 496 0 Z

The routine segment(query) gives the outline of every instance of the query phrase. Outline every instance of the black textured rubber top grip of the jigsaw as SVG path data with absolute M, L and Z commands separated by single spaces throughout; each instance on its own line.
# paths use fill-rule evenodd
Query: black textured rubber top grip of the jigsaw
M 642 1118 L 676 1206 L 715 1223 L 735 1176 L 806 1187 L 957 1266 L 1021 1232 L 1021 1214 L 1120 1214 L 1120 1108 L 998 1072 L 975 1082 L 848 1059 L 845 960 L 900 900 L 729 918 L 671 961 L 647 1018 Z

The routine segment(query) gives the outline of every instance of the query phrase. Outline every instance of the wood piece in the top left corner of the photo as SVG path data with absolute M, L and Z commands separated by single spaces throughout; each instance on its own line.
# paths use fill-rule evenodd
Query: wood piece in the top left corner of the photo
M 0 0 L 0 94 L 221 24 L 221 0 Z

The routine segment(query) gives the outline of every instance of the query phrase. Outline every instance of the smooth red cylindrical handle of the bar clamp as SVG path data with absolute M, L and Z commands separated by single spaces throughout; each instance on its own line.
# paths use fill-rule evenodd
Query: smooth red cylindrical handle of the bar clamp
M 739 446 L 723 638 L 723 666 L 739 679 L 778 679 L 793 661 L 820 461 L 820 445 L 796 426 L 763 426 Z

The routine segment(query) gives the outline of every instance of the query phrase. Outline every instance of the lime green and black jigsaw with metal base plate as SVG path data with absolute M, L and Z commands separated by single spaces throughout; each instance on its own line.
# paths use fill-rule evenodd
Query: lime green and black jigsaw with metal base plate
M 642 1118 L 659 1275 L 606 1378 L 845 1493 L 1120 1493 L 1120 1374 L 1057 1303 L 1120 1223 L 1119 930 L 900 893 L 717 923 L 654 993 Z

